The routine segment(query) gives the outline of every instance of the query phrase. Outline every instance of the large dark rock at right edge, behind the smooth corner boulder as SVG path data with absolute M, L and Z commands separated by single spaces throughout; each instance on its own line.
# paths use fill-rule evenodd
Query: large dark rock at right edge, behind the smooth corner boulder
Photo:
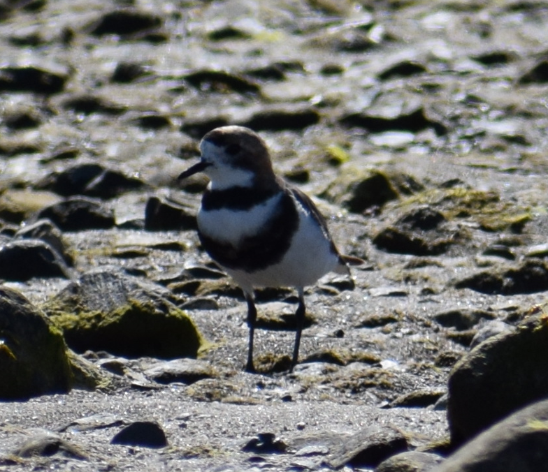
M 447 417 L 458 445 L 510 413 L 548 397 L 548 323 L 529 318 L 515 332 L 491 337 L 449 376 Z

